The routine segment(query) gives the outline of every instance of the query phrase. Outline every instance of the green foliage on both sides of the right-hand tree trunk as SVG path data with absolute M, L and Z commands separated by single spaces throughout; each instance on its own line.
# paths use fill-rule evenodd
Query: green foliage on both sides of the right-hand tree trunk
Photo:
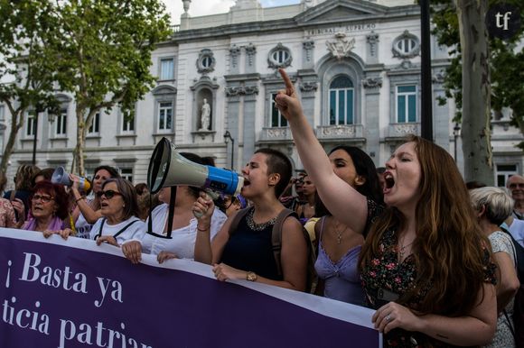
M 516 5 L 520 10 L 520 23 L 524 23 L 524 2 L 521 0 L 490 0 L 489 4 Z M 462 114 L 462 56 L 458 18 L 453 0 L 432 0 L 433 34 L 438 43 L 450 48 L 454 55 L 446 69 L 444 88 L 447 97 L 454 97 L 457 114 L 454 121 L 460 121 Z M 511 124 L 519 127 L 524 134 L 524 25 L 510 41 L 490 38 L 491 108 L 495 113 L 503 107 L 513 111 Z M 524 149 L 524 143 L 519 145 Z

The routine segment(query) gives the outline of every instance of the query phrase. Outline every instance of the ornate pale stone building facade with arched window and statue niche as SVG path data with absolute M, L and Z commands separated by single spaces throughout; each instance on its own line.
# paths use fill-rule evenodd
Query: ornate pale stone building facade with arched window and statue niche
M 88 173 L 103 163 L 134 182 L 145 181 L 154 144 L 163 136 L 180 151 L 214 157 L 220 167 L 240 169 L 257 148 L 273 147 L 300 169 L 291 132 L 274 107 L 284 87 L 278 68 L 293 79 L 326 151 L 352 144 L 383 166 L 407 133 L 420 133 L 420 9 L 413 1 L 303 0 L 262 8 L 257 0 L 237 0 L 227 14 L 194 18 L 191 1 L 183 4 L 180 26 L 154 51 L 157 86 L 137 103 L 135 119 L 126 121 L 114 110 L 91 125 Z M 461 168 L 453 100 L 436 102 L 444 97 L 448 51 L 434 39 L 431 50 L 434 139 Z M 70 165 L 74 101 L 64 95 L 62 105 L 52 123 L 38 120 L 40 167 Z M 32 120 L 28 114 L 12 171 L 31 161 Z M 497 117 L 492 145 L 499 184 L 522 172 L 523 156 L 514 147 L 520 141 L 509 116 Z

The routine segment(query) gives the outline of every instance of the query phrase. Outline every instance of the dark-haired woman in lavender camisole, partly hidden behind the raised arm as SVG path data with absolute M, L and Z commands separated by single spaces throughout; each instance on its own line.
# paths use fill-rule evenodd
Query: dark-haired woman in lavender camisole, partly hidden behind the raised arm
M 329 159 L 334 173 L 367 197 L 370 209 L 383 209 L 377 169 L 366 152 L 354 146 L 340 145 L 330 151 Z M 318 200 L 315 208 L 325 215 L 314 228 L 318 241 L 314 268 L 321 279 L 323 296 L 363 306 L 365 297 L 360 283 L 359 256 L 371 221 L 363 230 L 355 231 L 326 211 L 322 200 Z

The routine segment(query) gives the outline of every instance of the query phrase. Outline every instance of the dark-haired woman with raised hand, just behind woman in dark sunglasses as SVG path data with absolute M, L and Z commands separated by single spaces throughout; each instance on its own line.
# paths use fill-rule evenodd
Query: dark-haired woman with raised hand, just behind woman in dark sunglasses
M 79 185 L 80 178 L 70 174 L 70 179 L 73 181 L 70 194 L 73 196 L 74 202 L 77 205 L 72 213 L 77 237 L 89 238 L 89 232 L 93 224 L 102 217 L 101 201 L 97 194 L 102 189 L 104 181 L 111 178 L 120 178 L 117 169 L 109 166 L 97 167 L 95 169 L 95 176 L 93 177 L 92 191 L 94 197 L 84 197 L 84 193 L 81 191 Z

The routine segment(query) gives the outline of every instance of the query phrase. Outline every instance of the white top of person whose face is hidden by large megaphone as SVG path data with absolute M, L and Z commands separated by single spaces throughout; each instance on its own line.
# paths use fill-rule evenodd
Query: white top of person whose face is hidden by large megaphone
M 187 226 L 173 230 L 171 238 L 164 234 L 165 224 L 169 214 L 169 205 L 163 204 L 156 206 L 151 213 L 153 219 L 153 232 L 163 237 L 153 234 L 144 234 L 142 238 L 142 252 L 157 255 L 160 252 L 173 252 L 180 259 L 194 258 L 194 245 L 197 235 L 198 220 L 192 218 Z M 215 208 L 211 215 L 211 239 L 220 231 L 222 224 L 226 222 L 228 216 Z M 145 222 L 147 229 L 147 221 Z

